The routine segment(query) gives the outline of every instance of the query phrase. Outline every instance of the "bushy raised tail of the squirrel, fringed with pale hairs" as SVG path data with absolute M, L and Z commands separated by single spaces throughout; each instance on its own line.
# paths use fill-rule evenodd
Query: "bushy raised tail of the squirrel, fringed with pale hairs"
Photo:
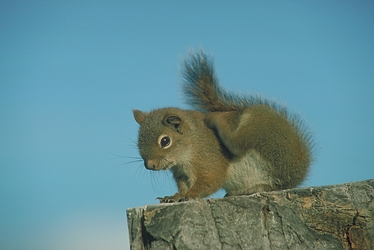
M 203 51 L 191 52 L 183 62 L 183 93 L 187 104 L 201 111 L 235 111 L 253 105 L 268 105 L 283 115 L 286 109 L 259 96 L 239 96 L 225 91 L 219 85 L 214 65 Z

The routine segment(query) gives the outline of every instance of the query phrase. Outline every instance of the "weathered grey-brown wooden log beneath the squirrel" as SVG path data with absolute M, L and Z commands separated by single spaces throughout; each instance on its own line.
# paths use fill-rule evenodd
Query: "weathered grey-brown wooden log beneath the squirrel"
M 374 180 L 127 210 L 131 249 L 374 249 Z

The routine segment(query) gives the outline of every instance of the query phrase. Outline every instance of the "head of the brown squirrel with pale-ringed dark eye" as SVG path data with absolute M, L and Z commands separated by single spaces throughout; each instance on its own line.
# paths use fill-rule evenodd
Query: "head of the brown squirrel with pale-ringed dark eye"
M 150 170 L 166 170 L 178 165 L 188 154 L 188 124 L 183 110 L 163 108 L 150 113 L 133 110 L 140 125 L 138 148 Z

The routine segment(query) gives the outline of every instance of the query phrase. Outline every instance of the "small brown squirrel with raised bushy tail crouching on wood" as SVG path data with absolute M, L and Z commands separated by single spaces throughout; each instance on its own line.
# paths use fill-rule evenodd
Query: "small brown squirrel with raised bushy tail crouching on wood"
M 170 170 L 178 186 L 160 202 L 293 188 L 306 177 L 312 138 L 296 115 L 259 96 L 219 86 L 203 51 L 183 62 L 183 93 L 194 110 L 133 110 L 138 149 L 149 170 Z

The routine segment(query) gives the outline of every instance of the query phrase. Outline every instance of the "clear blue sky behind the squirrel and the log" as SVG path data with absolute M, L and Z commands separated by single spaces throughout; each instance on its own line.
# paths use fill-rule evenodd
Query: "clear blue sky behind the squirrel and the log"
M 374 177 L 372 1 L 1 1 L 0 249 L 128 249 L 126 209 L 176 191 L 131 109 L 188 108 L 202 47 L 223 87 L 299 112 L 302 186 Z M 219 192 L 214 197 L 221 197 Z

